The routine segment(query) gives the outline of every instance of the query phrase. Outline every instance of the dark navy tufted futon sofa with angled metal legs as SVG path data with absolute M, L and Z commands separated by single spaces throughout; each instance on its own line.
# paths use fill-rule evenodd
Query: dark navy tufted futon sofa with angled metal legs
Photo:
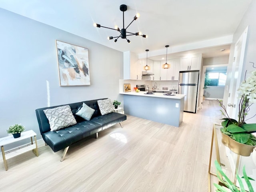
M 98 100 L 104 99 L 106 98 Z M 76 115 L 76 112 L 79 108 L 81 108 L 83 102 L 90 108 L 93 108 L 95 110 L 90 120 L 85 120 L 84 118 Z M 98 138 L 98 132 L 105 130 L 106 128 L 109 128 L 118 123 L 120 123 L 120 126 L 122 127 L 121 122 L 126 120 L 126 115 L 116 112 L 102 115 L 100 113 L 97 100 L 83 102 L 65 104 L 70 106 L 77 124 L 66 128 L 62 128 L 57 131 L 50 131 L 50 124 L 44 113 L 44 110 L 49 108 L 56 108 L 58 106 L 36 109 L 36 117 L 38 120 L 40 133 L 42 135 L 44 142 L 48 146 L 50 146 L 50 148 L 52 148 L 54 152 L 64 149 L 64 152 L 60 159 L 61 162 L 64 160 L 66 152 L 68 151 L 68 148 L 71 144 L 78 142 L 79 140 L 82 140 L 93 134 L 95 134 L 96 138 Z

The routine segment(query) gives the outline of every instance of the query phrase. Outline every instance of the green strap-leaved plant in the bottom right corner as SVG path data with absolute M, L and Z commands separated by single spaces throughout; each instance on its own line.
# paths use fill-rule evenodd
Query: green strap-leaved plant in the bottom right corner
M 236 178 L 238 180 L 238 183 L 240 185 L 240 187 L 237 187 L 236 185 L 234 185 L 233 182 L 231 182 L 231 180 L 228 178 L 228 176 L 226 176 L 226 174 L 222 171 L 222 168 L 220 166 L 220 164 L 218 163 L 217 160 L 215 160 L 214 162 L 215 167 L 217 169 L 217 172 L 220 173 L 220 175 L 223 177 L 221 177 L 219 174 L 217 174 L 218 179 L 220 180 L 220 182 L 222 182 L 226 187 L 221 186 L 219 184 L 214 183 L 214 186 L 217 188 L 217 192 L 228 192 L 228 189 L 230 189 L 231 192 L 246 192 L 246 190 L 244 189 L 244 184 L 242 183 L 242 179 L 240 178 L 240 176 L 236 173 Z M 254 192 L 252 184 L 250 182 L 250 180 L 253 180 L 252 178 L 248 177 L 245 171 L 245 166 L 243 167 L 243 176 L 242 178 L 244 178 L 246 185 L 248 186 L 249 192 Z

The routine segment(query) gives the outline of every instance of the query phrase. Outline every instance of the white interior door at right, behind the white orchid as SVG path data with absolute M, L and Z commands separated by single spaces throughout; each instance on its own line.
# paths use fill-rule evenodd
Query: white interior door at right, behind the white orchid
M 242 69 L 244 64 L 244 52 L 246 48 L 246 39 L 248 34 L 248 27 L 244 30 L 235 44 L 234 58 L 232 64 L 232 74 L 230 79 L 229 97 L 227 100 L 227 113 L 230 118 L 237 118 L 238 114 L 238 94 L 237 90 L 241 82 Z

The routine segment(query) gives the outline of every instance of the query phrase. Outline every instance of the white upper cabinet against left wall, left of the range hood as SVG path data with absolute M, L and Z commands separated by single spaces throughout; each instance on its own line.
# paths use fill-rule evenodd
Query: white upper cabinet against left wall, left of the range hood
M 130 51 L 124 52 L 124 80 L 142 80 L 142 60 Z

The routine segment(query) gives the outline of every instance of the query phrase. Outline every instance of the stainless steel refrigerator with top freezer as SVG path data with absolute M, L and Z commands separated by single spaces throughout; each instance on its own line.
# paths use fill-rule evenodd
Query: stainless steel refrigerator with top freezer
M 179 94 L 185 94 L 184 111 L 196 113 L 199 71 L 181 71 L 179 76 Z

